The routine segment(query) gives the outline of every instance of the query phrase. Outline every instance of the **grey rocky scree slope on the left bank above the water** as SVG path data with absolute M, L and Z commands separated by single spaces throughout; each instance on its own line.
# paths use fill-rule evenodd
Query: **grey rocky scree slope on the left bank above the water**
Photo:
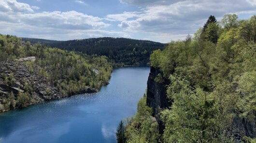
M 19 93 L 28 92 L 30 96 L 27 105 L 31 105 L 65 96 L 98 92 L 95 88 L 86 87 L 69 95 L 63 95 L 49 78 L 39 75 L 39 67 L 34 67 L 31 72 L 22 61 L 3 61 L 0 63 L 0 105 L 4 105 L 4 107 L 0 107 L 0 112 L 17 108 L 15 100 L 17 100 Z M 14 103 L 9 100 L 11 93 L 14 94 L 15 100 L 12 99 Z

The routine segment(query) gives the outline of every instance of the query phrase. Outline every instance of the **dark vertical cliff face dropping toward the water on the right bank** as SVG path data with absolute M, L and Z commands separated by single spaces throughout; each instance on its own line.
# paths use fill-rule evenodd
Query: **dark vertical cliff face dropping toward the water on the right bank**
M 169 80 L 165 79 L 164 83 L 155 82 L 156 75 L 162 72 L 159 69 L 154 67 L 150 68 L 150 73 L 147 81 L 147 105 L 152 107 L 153 116 L 156 117 L 156 120 L 159 124 L 159 131 L 163 133 L 164 125 L 160 120 L 160 111 L 161 109 L 171 106 L 171 102 L 167 99 L 166 90 L 167 85 L 170 84 Z

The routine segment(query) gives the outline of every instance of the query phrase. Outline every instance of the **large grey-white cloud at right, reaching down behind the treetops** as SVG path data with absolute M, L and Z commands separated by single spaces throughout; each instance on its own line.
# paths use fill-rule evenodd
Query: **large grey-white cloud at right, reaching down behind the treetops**
M 154 0 L 151 4 L 149 2 L 153 0 L 121 1 L 147 7 L 134 13 L 132 20 L 123 20 L 118 26 L 130 33 L 147 33 L 150 39 L 162 42 L 184 39 L 187 34 L 195 33 L 210 15 L 220 20 L 226 13 L 256 14 L 256 0 Z M 122 14 L 125 15 L 116 14 L 116 17 Z M 115 17 L 114 14 L 111 16 Z

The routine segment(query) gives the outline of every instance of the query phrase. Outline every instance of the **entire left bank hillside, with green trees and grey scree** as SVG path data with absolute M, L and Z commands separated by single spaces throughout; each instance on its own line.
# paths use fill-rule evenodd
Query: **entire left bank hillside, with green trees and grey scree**
M 10 35 L 0 35 L 0 67 L 0 112 L 54 99 L 52 96 L 100 89 L 112 72 L 106 56 L 24 44 L 21 38 Z

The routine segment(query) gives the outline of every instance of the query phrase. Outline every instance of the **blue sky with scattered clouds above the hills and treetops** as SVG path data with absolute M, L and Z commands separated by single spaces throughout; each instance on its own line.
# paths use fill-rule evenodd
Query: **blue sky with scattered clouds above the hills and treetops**
M 256 14 L 256 0 L 0 0 L 0 34 L 50 40 L 185 39 L 210 15 Z

